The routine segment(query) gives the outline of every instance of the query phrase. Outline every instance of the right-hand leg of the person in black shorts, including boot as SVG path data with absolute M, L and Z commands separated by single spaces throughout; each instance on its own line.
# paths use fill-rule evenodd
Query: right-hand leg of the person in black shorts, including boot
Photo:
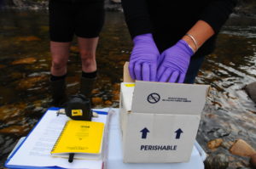
M 80 93 L 90 97 L 96 81 L 96 46 L 104 22 L 104 1 L 83 1 L 77 4 L 75 34 L 82 60 Z

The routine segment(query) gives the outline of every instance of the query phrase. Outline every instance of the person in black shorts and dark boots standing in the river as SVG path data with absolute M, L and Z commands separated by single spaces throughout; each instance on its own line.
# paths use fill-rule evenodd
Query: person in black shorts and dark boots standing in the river
M 69 48 L 78 37 L 82 63 L 80 93 L 90 97 L 96 80 L 96 47 L 104 22 L 104 0 L 49 0 L 49 37 L 53 104 L 66 101 Z

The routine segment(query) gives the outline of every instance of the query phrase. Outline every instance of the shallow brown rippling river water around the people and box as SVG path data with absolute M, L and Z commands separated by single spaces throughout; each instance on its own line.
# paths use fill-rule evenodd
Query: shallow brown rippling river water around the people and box
M 49 107 L 49 37 L 46 12 L 0 12 L 0 167 L 18 138 L 26 134 Z M 247 158 L 228 149 L 208 149 L 207 142 L 242 138 L 256 149 L 256 108 L 242 87 L 256 81 L 256 19 L 232 16 L 207 56 L 197 83 L 212 90 L 202 114 L 198 142 L 208 154 L 225 153 L 230 168 L 247 166 Z M 97 48 L 99 78 L 93 106 L 119 107 L 122 67 L 131 53 L 123 14 L 108 12 Z M 68 61 L 67 92 L 77 93 L 81 73 L 74 39 Z

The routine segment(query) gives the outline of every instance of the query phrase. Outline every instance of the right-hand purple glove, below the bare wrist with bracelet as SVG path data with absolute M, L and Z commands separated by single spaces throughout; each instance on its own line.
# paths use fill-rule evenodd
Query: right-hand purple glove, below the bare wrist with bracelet
M 189 44 L 179 40 L 162 54 L 163 59 L 157 70 L 158 82 L 184 82 L 193 50 Z

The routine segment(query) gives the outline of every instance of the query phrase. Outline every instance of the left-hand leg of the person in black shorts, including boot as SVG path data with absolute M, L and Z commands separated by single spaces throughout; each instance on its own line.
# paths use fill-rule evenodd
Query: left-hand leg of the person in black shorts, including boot
M 49 78 L 53 105 L 60 107 L 65 103 L 66 74 L 69 48 L 73 39 L 72 4 L 49 1 L 49 37 L 52 63 Z

